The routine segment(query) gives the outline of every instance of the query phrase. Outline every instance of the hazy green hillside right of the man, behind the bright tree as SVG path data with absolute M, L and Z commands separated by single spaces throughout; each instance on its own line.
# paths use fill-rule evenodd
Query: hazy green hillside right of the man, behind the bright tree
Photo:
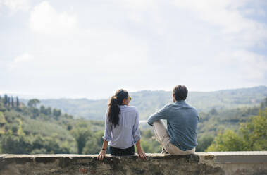
M 265 111 L 266 108 L 267 98 L 265 98 L 264 101 L 261 102 L 259 107 L 243 107 L 223 111 L 211 109 L 211 111 L 207 113 L 199 113 L 199 145 L 197 146 L 197 152 L 211 151 L 211 149 L 206 149 L 209 147 L 209 145 L 211 145 L 211 143 L 213 143 L 213 145 L 217 145 L 216 139 L 218 139 L 218 137 L 222 133 L 228 131 L 231 131 L 232 133 L 237 133 L 237 131 L 240 131 L 240 125 L 245 125 L 245 123 L 248 124 L 250 122 L 253 122 L 253 117 L 259 115 L 260 111 Z M 263 117 L 266 116 L 263 115 Z M 265 130 L 267 131 L 267 123 L 264 124 Z M 265 136 L 265 139 L 267 139 L 267 136 Z M 223 150 L 217 149 L 216 151 Z

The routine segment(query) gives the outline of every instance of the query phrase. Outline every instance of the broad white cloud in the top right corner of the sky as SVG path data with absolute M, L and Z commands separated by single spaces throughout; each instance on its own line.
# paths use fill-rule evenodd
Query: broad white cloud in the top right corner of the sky
M 191 11 L 197 18 L 218 25 L 223 28 L 221 34 L 226 35 L 225 40 L 234 42 L 237 46 L 251 47 L 255 45 L 262 46 L 263 40 L 267 39 L 267 26 L 244 16 L 246 13 L 263 10 L 250 9 L 249 2 L 232 0 L 175 0 L 178 8 Z

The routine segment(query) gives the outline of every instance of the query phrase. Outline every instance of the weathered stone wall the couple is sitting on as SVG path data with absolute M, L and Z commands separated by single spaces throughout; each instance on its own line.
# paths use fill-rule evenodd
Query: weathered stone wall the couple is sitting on
M 267 152 L 147 154 L 146 161 L 137 155 L 103 161 L 97 155 L 0 155 L 0 174 L 267 174 L 266 159 Z

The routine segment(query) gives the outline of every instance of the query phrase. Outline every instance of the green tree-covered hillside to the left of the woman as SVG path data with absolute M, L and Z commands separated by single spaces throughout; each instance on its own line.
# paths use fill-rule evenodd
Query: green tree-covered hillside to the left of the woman
M 11 97 L 12 98 L 12 97 Z M 12 104 L 0 99 L 0 151 L 2 153 L 89 153 L 98 152 L 104 122 L 73 119 L 59 109 L 41 106 L 38 99 Z M 87 146 L 87 149 L 83 149 Z

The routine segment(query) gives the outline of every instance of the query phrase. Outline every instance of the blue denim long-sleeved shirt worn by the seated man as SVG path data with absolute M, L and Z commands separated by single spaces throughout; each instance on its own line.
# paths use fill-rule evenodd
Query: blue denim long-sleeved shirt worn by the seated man
M 173 104 L 167 104 L 149 116 L 147 123 L 153 126 L 154 121 L 160 119 L 167 120 L 170 143 L 183 151 L 192 150 L 197 146 L 197 123 L 199 123 L 197 109 L 191 107 L 184 100 L 179 100 Z

